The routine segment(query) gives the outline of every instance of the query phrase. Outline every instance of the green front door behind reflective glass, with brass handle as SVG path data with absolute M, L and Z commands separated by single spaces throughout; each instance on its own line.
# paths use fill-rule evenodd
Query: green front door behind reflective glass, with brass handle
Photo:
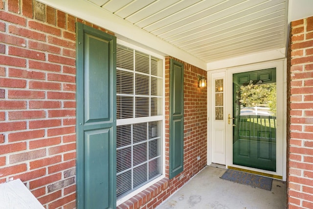
M 276 171 L 276 69 L 233 74 L 233 164 Z

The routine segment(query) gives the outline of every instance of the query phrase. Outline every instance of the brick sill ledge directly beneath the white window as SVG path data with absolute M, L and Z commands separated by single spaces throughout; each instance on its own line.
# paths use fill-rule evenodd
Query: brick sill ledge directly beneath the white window
M 149 186 L 145 190 L 139 192 L 134 197 L 125 201 L 116 207 L 116 209 L 139 209 L 153 200 L 157 195 L 167 189 L 169 185 L 169 179 L 164 178 L 156 182 L 156 184 Z

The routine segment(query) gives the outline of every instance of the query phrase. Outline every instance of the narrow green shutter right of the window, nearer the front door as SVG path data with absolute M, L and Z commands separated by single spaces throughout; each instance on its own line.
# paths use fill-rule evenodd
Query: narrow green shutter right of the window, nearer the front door
M 184 66 L 170 61 L 170 179 L 183 171 Z

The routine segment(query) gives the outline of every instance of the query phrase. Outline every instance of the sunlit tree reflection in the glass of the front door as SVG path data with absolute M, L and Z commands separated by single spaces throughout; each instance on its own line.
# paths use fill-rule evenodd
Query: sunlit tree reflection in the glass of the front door
M 240 87 L 240 103 L 243 107 L 268 107 L 276 116 L 276 83 L 262 84 L 262 81 L 250 81 Z

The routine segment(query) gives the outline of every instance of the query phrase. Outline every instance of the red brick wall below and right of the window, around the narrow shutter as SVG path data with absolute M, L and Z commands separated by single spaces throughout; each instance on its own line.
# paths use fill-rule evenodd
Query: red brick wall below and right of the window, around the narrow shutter
M 184 64 L 184 170 L 169 180 L 170 58 L 165 59 L 165 173 L 166 178 L 119 205 L 119 209 L 154 209 L 206 165 L 207 92 L 198 87 L 198 75 L 206 71 Z M 197 161 L 197 157 L 200 160 Z

